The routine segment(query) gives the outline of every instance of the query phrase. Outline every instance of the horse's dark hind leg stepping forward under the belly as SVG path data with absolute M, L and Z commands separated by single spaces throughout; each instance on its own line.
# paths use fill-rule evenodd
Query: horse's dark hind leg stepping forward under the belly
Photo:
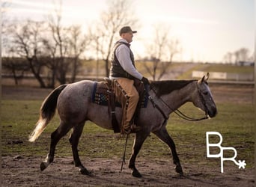
M 79 138 L 82 135 L 82 129 L 84 128 L 85 123 L 79 123 L 77 126 L 73 127 L 73 132 L 70 135 L 70 144 L 72 146 L 72 152 L 73 152 L 73 159 L 76 167 L 79 168 L 79 171 L 81 174 L 89 175 L 91 172 L 89 172 L 81 163 L 79 159 L 79 153 L 78 153 L 78 144 L 79 144 Z

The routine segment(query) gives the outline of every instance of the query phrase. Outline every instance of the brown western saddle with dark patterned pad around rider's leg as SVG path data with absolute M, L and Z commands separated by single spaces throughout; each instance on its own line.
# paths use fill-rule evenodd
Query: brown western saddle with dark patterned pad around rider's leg
M 97 105 L 107 105 L 109 115 L 112 117 L 112 127 L 114 132 L 121 132 L 121 129 L 118 124 L 118 120 L 115 115 L 115 108 L 122 107 L 121 103 L 116 100 L 115 93 L 113 91 L 113 84 L 115 82 L 112 79 L 104 78 L 104 82 L 94 82 L 94 90 L 92 93 L 92 102 L 96 103 Z M 144 85 L 141 84 L 139 80 L 135 80 L 134 82 L 135 88 L 138 91 L 139 100 L 137 104 L 137 108 L 135 110 L 135 114 L 133 115 L 133 120 L 136 120 L 138 117 L 138 111 L 140 108 L 147 107 L 147 95 L 144 89 Z

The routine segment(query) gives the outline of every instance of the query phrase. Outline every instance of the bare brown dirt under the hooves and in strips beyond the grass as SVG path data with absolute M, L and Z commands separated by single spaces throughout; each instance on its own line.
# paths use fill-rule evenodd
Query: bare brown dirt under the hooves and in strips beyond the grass
M 216 102 L 254 102 L 253 86 L 210 86 Z M 50 90 L 38 88 L 2 88 L 2 99 L 42 99 Z M 225 94 L 223 94 L 225 92 Z M 141 178 L 132 177 L 127 164 L 121 169 L 121 159 L 85 158 L 82 162 L 91 176 L 79 174 L 79 170 L 71 165 L 72 157 L 56 157 L 45 171 L 40 171 L 40 162 L 44 156 L 2 156 L 1 186 L 255 186 L 254 168 L 240 170 L 237 166 L 213 168 L 197 163 L 183 164 L 184 176 L 174 171 L 171 158 L 147 159 L 138 157 L 136 165 Z

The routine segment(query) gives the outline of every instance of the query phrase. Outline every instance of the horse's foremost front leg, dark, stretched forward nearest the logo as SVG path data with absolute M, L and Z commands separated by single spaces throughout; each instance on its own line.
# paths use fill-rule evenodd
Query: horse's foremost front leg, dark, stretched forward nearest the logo
M 163 142 L 165 142 L 165 144 L 168 144 L 168 147 L 171 149 L 171 154 L 174 160 L 174 165 L 175 166 L 175 171 L 181 175 L 183 175 L 183 170 L 182 167 L 180 165 L 180 159 L 177 156 L 177 152 L 176 152 L 176 147 L 174 144 L 174 141 L 171 139 L 171 136 L 168 135 L 168 132 L 165 128 L 165 126 L 162 126 L 161 129 L 159 129 L 156 132 L 153 132 L 160 140 L 162 140 Z

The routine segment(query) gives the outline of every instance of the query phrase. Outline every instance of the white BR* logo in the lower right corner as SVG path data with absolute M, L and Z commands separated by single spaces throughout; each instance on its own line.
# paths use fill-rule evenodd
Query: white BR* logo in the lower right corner
M 219 143 L 217 144 L 210 144 L 209 138 L 210 135 L 217 135 L 219 136 Z M 221 159 L 221 172 L 223 173 L 223 162 L 224 161 L 233 161 L 238 167 L 240 168 L 246 168 L 246 161 L 239 160 L 238 162 L 235 160 L 237 157 L 237 150 L 234 147 L 222 147 L 222 135 L 219 132 L 206 132 L 206 142 L 207 142 L 207 158 L 220 158 Z M 219 153 L 218 154 L 210 154 L 210 147 L 219 147 Z M 225 158 L 223 156 L 225 150 L 231 150 L 234 152 L 234 156 L 230 158 Z

